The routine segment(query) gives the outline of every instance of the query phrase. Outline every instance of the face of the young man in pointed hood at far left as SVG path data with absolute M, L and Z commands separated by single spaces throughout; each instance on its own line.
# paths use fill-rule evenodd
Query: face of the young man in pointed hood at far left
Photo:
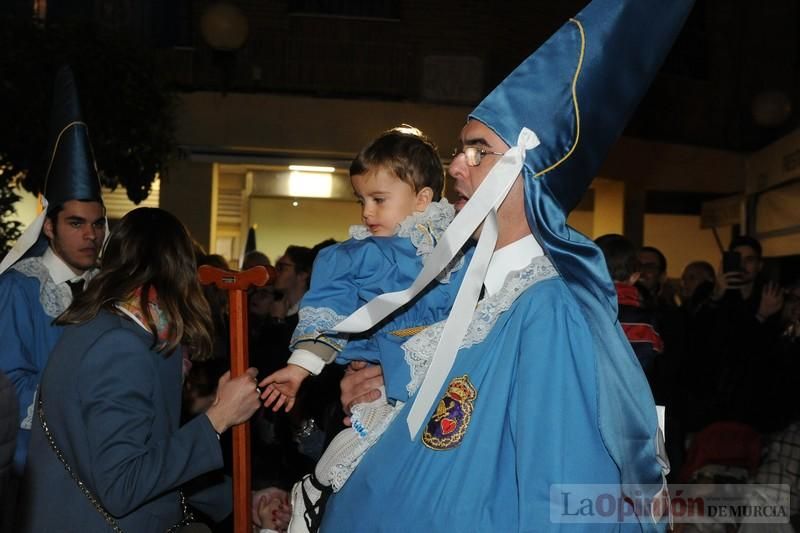
M 44 234 L 53 252 L 80 275 L 97 264 L 106 234 L 106 216 L 100 202 L 64 202 L 55 223 L 45 218 Z

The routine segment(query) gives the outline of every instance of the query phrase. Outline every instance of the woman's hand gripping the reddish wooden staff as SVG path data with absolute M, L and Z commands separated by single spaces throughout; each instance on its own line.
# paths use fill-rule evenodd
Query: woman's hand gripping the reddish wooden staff
M 223 433 L 232 426 L 246 422 L 261 406 L 257 375 L 258 370 L 248 368 L 234 379 L 231 379 L 230 372 L 225 372 L 219 378 L 217 397 L 206 411 L 214 431 Z

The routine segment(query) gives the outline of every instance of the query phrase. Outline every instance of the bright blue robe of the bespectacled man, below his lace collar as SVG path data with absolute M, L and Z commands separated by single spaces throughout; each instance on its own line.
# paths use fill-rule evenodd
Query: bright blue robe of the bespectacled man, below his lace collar
M 467 376 L 476 393 L 460 441 L 432 449 L 420 431 L 412 442 L 407 403 L 331 496 L 321 531 L 638 530 L 551 521 L 552 484 L 620 482 L 598 429 L 595 357 L 563 280 L 530 286 L 459 351 L 446 383 Z

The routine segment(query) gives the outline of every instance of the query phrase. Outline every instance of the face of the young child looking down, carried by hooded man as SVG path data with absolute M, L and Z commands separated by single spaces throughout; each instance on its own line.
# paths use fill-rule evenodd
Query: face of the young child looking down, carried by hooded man
M 353 192 L 361 204 L 361 219 L 370 233 L 378 237 L 394 235 L 407 216 L 424 211 L 431 203 L 432 191 L 419 192 L 383 167 L 350 178 Z

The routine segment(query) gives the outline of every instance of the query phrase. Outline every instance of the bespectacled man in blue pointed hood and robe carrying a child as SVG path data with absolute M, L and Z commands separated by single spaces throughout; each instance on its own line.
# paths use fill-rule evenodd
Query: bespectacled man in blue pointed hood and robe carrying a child
M 566 217 L 691 4 L 594 0 L 470 114 L 450 165 L 461 211 L 415 282 L 472 235 L 464 297 L 404 345 L 413 397 L 331 496 L 322 531 L 664 529 L 646 505 L 668 471 L 655 405 L 602 253 Z M 565 493 L 632 512 L 624 493 L 637 516 L 585 500 L 578 512 Z

